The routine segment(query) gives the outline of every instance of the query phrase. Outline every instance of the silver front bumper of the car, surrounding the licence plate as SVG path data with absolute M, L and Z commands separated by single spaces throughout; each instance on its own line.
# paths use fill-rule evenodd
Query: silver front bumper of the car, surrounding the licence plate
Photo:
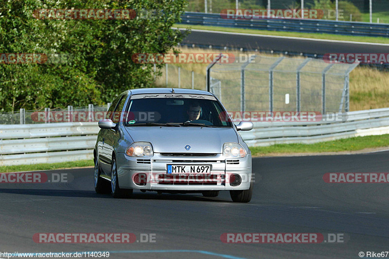
M 251 182 L 251 155 L 244 158 L 226 159 L 222 154 L 210 156 L 171 156 L 154 153 L 153 157 L 131 157 L 116 154 L 119 187 L 138 190 L 248 190 Z M 167 174 L 167 165 L 211 165 L 211 173 Z M 147 181 L 137 185 L 137 174 L 145 173 Z M 231 176 L 231 174 L 234 174 Z M 233 179 L 241 178 L 238 186 Z M 231 178 L 232 177 L 232 178 Z M 144 179 L 144 178 L 143 178 Z M 202 180 L 204 179 L 204 180 Z M 135 181 L 135 182 L 134 182 Z

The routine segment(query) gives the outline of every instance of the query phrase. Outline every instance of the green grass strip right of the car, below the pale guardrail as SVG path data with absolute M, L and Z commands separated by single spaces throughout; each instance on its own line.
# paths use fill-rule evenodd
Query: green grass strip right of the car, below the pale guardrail
M 314 144 L 277 144 L 267 147 L 251 147 L 252 155 L 269 155 L 274 153 L 323 153 L 358 151 L 366 148 L 389 147 L 389 134 L 343 138 Z

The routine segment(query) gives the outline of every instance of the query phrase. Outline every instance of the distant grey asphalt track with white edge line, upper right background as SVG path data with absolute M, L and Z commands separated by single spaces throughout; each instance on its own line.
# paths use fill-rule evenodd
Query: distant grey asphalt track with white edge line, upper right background
M 234 47 L 247 50 L 278 51 L 323 55 L 325 53 L 387 53 L 389 44 L 334 42 L 331 40 L 299 39 L 268 35 L 247 35 L 192 30 L 183 44 Z

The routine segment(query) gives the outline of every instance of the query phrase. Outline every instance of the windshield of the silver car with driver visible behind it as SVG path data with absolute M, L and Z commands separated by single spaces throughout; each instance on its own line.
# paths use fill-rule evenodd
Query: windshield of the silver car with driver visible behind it
M 233 126 L 224 108 L 211 98 L 132 98 L 126 112 L 126 126 Z

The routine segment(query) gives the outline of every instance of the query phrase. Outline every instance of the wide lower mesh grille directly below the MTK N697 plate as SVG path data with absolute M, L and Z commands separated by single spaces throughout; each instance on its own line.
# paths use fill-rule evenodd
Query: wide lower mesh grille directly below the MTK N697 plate
M 167 184 L 167 185 L 217 185 L 218 181 L 220 182 L 222 178 L 217 174 L 211 175 L 167 175 L 159 174 L 158 184 Z

